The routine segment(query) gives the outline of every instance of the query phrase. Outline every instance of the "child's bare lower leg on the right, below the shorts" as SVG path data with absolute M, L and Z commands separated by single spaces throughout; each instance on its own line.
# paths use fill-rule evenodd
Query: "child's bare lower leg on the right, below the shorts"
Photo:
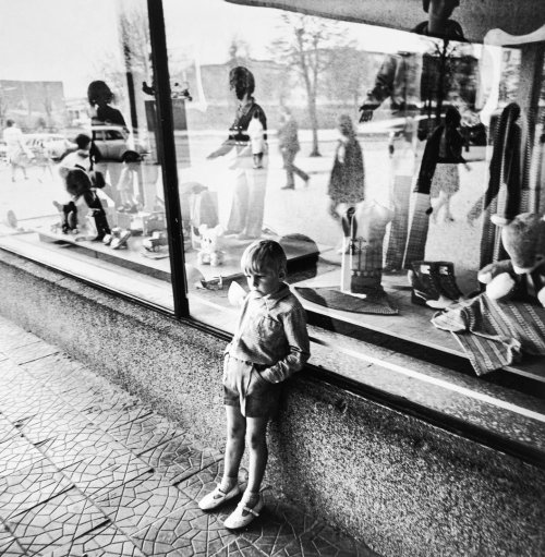
M 254 507 L 259 498 L 259 488 L 267 465 L 267 417 L 246 417 L 250 470 L 247 487 L 242 499 L 250 508 Z

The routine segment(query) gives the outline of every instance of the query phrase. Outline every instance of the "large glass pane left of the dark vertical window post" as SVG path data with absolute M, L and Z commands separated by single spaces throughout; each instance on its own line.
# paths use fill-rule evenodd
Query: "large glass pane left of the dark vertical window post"
M 0 7 L 0 245 L 171 308 L 146 5 Z

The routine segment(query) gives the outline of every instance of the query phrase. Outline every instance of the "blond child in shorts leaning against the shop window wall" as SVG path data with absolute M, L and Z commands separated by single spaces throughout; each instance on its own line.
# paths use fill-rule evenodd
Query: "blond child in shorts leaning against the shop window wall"
M 241 267 L 250 293 L 223 363 L 223 477 L 198 504 L 203 510 L 211 510 L 240 494 L 238 474 L 246 440 L 247 487 L 223 523 L 231 530 L 250 524 L 264 507 L 259 488 L 268 457 L 267 422 L 278 409 L 280 384 L 311 355 L 305 312 L 283 282 L 287 258 L 282 246 L 272 240 L 257 240 L 244 251 Z

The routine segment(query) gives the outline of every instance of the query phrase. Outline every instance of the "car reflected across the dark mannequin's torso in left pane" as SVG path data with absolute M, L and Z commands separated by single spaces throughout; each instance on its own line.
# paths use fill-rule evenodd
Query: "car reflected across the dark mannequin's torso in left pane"
M 148 154 L 121 125 L 94 125 L 90 134 L 96 160 L 136 162 Z

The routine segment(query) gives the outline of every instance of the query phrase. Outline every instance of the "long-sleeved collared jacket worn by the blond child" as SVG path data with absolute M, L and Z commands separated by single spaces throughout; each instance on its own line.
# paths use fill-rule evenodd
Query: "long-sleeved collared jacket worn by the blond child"
M 288 284 L 265 296 L 247 294 L 226 353 L 266 366 L 259 372 L 270 383 L 283 382 L 303 367 L 311 356 L 306 316 Z

